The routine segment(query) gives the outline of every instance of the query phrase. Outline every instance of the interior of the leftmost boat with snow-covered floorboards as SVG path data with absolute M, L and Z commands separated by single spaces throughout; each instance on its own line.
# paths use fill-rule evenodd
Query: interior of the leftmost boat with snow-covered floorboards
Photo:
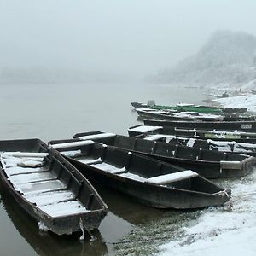
M 74 167 L 52 149 L 48 151 L 46 144 L 20 140 L 1 142 L 0 148 L 1 172 L 10 185 L 50 217 L 101 208 L 93 191 L 79 180 Z

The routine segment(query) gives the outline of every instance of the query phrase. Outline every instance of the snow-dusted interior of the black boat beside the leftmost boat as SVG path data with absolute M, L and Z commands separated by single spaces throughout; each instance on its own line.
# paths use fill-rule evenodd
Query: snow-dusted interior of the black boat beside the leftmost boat
M 140 154 L 114 148 L 93 141 L 62 140 L 50 142 L 61 154 L 79 162 L 79 166 L 129 178 L 134 181 L 164 186 L 172 189 L 189 189 L 198 192 L 216 193 L 218 189 L 196 172 L 184 170 Z M 84 143 L 84 145 L 83 145 Z

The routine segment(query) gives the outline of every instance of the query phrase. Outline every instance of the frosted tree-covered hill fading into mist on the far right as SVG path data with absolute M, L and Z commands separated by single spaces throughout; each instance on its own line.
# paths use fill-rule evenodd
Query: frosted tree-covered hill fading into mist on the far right
M 219 31 L 201 50 L 156 76 L 159 83 L 225 84 L 234 87 L 256 78 L 256 38 L 245 32 Z

